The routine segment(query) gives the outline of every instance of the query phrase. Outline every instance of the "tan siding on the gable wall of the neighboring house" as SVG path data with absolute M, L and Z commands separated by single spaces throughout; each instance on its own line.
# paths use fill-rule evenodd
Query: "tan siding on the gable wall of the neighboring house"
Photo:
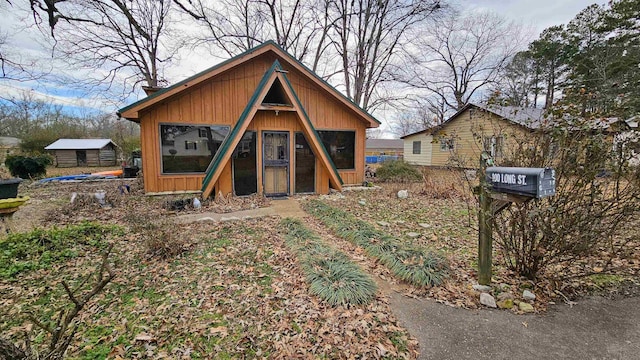
M 467 109 L 434 134 L 431 165 L 476 168 L 483 150 L 482 140 L 477 138 L 477 135 L 481 134 L 483 137 L 502 135 L 503 149 L 506 152 L 514 145 L 516 138 L 528 132 L 524 127 L 492 113 L 474 108 Z M 442 151 L 440 148 L 442 138 L 453 138 L 455 149 Z

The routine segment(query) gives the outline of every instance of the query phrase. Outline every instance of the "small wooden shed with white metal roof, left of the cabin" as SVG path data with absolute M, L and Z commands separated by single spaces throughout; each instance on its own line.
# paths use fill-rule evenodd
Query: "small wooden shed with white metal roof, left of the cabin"
M 116 145 L 111 139 L 59 139 L 46 146 L 56 167 L 114 166 Z

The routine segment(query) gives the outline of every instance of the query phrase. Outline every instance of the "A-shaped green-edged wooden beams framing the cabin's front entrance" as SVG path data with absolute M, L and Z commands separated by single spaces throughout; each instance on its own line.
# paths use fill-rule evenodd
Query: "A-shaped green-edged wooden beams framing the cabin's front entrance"
M 294 99 L 294 103 L 292 105 L 296 114 L 298 115 L 298 118 L 301 121 L 303 133 L 305 137 L 310 140 L 309 145 L 311 146 L 314 154 L 316 154 L 316 156 L 320 158 L 321 163 L 329 173 L 330 184 L 335 189 L 342 190 L 342 178 L 338 173 L 338 169 L 336 169 L 333 161 L 331 160 L 331 157 L 329 157 L 327 149 L 324 147 L 320 136 L 318 135 L 318 132 L 313 127 L 311 120 L 302 107 L 300 99 L 298 99 L 298 96 L 293 90 L 289 79 L 282 71 L 280 62 L 276 60 L 273 65 L 271 65 L 271 68 L 269 68 L 269 70 L 264 74 L 262 80 L 260 80 L 258 87 L 251 96 L 249 103 L 240 115 L 240 118 L 236 122 L 236 125 L 233 127 L 233 130 L 231 131 L 229 136 L 227 136 L 227 138 L 222 142 L 220 149 L 211 160 L 211 163 L 207 168 L 206 175 L 202 180 L 202 195 L 204 198 L 211 196 L 213 187 L 220 178 L 225 164 L 227 164 L 227 162 L 231 159 L 233 150 L 236 148 L 236 146 L 244 136 L 244 133 L 249 127 L 249 124 L 260 109 L 262 100 L 265 98 L 268 91 L 271 90 L 271 87 L 276 80 L 280 81 L 280 84 L 282 85 L 282 88 L 286 93 L 288 99 Z

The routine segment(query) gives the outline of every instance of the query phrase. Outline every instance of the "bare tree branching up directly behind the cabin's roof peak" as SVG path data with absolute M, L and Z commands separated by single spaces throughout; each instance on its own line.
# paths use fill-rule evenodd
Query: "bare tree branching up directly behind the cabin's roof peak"
M 332 0 L 175 0 L 205 32 L 197 44 L 234 56 L 274 40 L 316 71 L 327 49 Z

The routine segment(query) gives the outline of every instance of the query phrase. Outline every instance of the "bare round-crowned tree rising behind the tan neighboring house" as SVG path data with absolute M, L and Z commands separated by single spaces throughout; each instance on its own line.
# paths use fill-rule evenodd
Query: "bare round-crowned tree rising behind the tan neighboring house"
M 452 11 L 413 32 L 413 38 L 403 80 L 458 110 L 496 82 L 524 34 L 493 13 Z

